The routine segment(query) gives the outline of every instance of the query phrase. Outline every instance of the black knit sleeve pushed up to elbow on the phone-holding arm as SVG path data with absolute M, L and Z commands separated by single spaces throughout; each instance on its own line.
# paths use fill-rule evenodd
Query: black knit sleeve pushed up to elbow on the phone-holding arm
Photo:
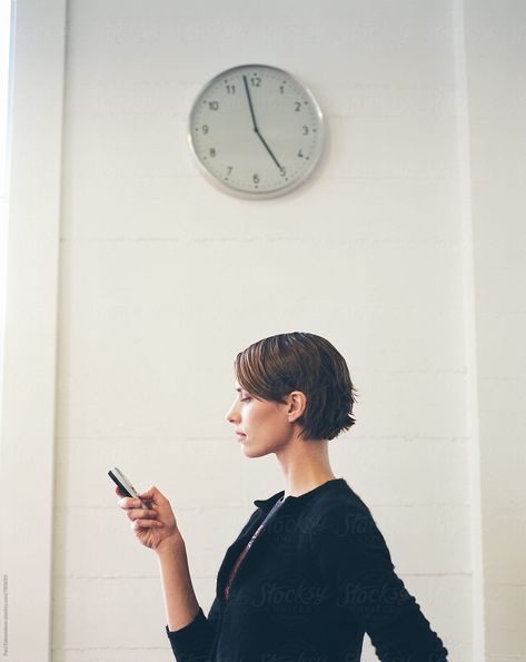
M 201 607 L 191 623 L 175 632 L 168 630 L 166 633 L 170 640 L 171 650 L 177 662 L 208 662 L 216 634 L 219 605 L 215 597 L 208 617 Z

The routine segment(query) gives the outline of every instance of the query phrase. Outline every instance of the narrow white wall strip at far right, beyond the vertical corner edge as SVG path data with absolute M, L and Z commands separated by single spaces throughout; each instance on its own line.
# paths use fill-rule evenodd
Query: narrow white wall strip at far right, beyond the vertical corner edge
M 526 3 L 466 2 L 486 650 L 526 661 Z

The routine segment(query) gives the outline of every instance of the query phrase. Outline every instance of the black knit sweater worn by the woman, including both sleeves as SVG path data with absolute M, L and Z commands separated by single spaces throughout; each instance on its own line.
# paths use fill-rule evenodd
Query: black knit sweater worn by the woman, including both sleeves
M 397 576 L 369 508 L 345 478 L 258 506 L 219 569 L 205 616 L 166 632 L 178 662 L 359 662 L 364 633 L 381 662 L 447 662 L 447 650 Z

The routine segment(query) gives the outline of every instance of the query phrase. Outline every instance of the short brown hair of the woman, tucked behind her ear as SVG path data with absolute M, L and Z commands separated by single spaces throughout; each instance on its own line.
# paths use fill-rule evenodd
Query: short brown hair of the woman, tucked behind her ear
M 234 362 L 239 386 L 259 399 L 285 404 L 292 391 L 307 396 L 298 418 L 307 439 L 334 439 L 356 419 L 358 392 L 341 354 L 325 338 L 292 332 L 262 338 Z

